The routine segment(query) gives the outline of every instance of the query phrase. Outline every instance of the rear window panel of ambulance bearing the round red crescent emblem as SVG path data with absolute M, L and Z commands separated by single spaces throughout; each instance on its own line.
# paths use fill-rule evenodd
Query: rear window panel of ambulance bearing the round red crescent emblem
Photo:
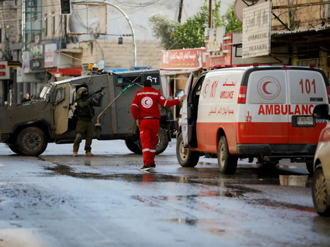
M 285 104 L 287 102 L 285 70 L 254 71 L 248 80 L 250 104 Z

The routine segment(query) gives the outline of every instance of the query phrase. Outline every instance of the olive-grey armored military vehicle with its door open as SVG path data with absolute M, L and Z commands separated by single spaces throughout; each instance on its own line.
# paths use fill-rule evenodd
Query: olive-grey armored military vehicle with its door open
M 115 74 L 96 71 L 59 82 L 50 79 L 41 86 L 30 102 L 0 108 L 0 142 L 7 143 L 15 153 L 28 156 L 42 154 L 47 143 L 74 143 L 74 97 L 76 91 L 84 86 L 89 93 L 104 88 L 101 106 L 94 107 L 96 115 L 92 121 L 94 125 L 96 122 L 97 124 L 93 138 L 122 139 L 129 150 L 142 153 L 140 133 L 131 115 L 131 102 L 135 93 L 142 89 L 138 84 L 142 85 L 147 79 L 153 81 L 155 89 L 162 91 L 157 70 Z M 170 141 L 170 126 L 172 130 L 175 128 L 175 122 L 170 121 L 167 110 L 161 110 L 157 154 L 164 152 Z

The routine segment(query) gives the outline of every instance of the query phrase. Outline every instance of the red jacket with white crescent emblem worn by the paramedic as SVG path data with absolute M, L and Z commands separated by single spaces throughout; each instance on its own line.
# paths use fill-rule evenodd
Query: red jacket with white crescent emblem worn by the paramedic
M 179 99 L 168 100 L 151 86 L 146 86 L 141 91 L 135 93 L 131 110 L 135 120 L 143 117 L 157 117 L 160 119 L 158 104 L 165 107 L 179 104 Z

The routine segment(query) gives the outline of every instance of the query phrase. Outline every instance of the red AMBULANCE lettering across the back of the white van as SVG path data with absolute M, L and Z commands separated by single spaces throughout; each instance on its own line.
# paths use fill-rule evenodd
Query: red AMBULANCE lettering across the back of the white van
M 260 105 L 258 115 L 312 115 L 314 105 L 266 104 Z

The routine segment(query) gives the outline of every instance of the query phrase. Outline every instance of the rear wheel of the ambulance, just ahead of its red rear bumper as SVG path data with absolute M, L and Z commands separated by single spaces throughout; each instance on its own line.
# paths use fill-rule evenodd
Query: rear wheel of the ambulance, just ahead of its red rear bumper
M 221 174 L 234 174 L 238 158 L 229 153 L 227 139 L 222 136 L 218 145 L 218 165 Z

